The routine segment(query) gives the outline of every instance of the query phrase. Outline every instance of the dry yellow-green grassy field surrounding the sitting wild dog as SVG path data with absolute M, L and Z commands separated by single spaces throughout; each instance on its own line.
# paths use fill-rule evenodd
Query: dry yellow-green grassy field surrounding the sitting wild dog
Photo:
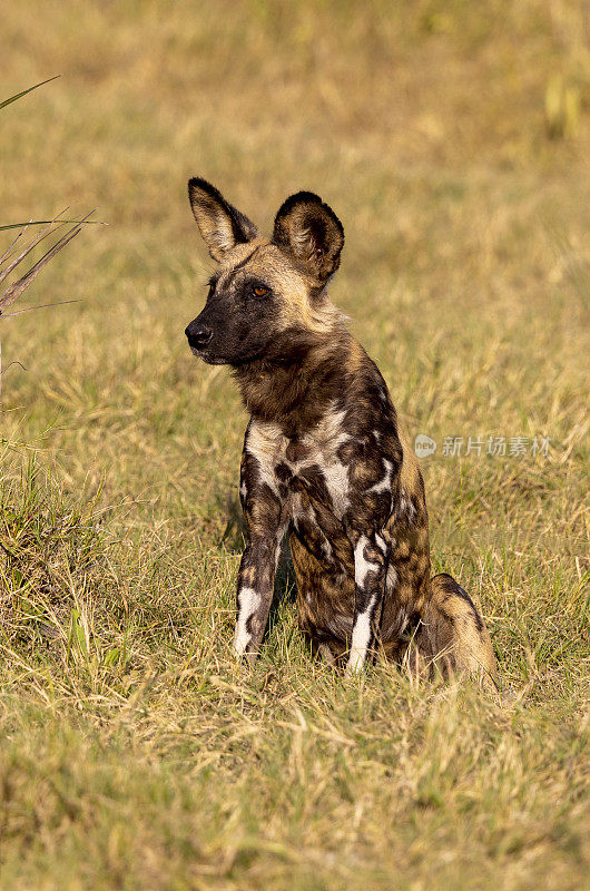
M 2 890 L 588 881 L 589 36 L 566 0 L 2 9 L 3 95 L 62 78 L 2 112 L 0 223 L 108 223 L 28 293 L 80 303 L 0 320 Z M 314 665 L 288 574 L 235 668 L 246 417 L 183 334 L 194 174 L 343 221 L 332 297 L 437 442 L 433 562 L 503 697 Z

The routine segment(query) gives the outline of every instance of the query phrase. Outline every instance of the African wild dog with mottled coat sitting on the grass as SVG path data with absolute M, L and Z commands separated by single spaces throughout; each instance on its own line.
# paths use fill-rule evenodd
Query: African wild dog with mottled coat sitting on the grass
M 256 658 L 288 533 L 299 626 L 321 657 L 353 673 L 380 646 L 415 670 L 436 660 L 490 681 L 473 603 L 451 576 L 430 577 L 424 484 L 387 386 L 326 293 L 341 222 L 299 192 L 268 239 L 206 180 L 188 193 L 219 265 L 185 333 L 195 355 L 232 366 L 250 412 L 236 654 Z

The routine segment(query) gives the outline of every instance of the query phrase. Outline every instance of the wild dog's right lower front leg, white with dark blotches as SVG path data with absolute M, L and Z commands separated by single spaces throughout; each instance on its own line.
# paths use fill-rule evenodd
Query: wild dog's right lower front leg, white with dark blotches
M 377 532 L 353 532 L 354 617 L 346 674 L 361 672 L 378 638 L 387 546 Z

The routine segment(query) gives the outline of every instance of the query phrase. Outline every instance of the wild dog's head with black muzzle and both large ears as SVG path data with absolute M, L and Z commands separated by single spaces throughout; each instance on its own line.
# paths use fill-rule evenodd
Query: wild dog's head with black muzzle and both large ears
M 279 208 L 273 237 L 205 179 L 188 183 L 190 206 L 218 267 L 200 314 L 186 329 L 195 355 L 212 364 L 289 361 L 337 320 L 325 285 L 340 265 L 344 231 L 311 192 Z

